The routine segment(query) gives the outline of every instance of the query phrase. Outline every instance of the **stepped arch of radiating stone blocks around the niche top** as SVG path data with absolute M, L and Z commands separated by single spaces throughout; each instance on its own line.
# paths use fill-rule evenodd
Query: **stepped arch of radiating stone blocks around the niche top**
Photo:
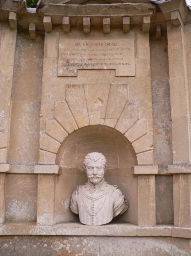
M 58 149 L 74 130 L 106 125 L 132 144 L 138 165 L 153 165 L 152 112 L 127 84 L 67 84 L 66 99 L 54 101 L 54 118 L 40 134 L 39 164 L 55 164 Z

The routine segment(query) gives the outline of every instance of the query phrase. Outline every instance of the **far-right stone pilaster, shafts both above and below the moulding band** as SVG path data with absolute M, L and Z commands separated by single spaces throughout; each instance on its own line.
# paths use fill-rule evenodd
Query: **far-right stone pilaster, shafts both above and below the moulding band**
M 182 24 L 182 22 L 180 22 Z M 184 31 L 167 23 L 173 165 L 190 164 L 190 109 Z M 191 225 L 190 174 L 173 175 L 174 224 Z

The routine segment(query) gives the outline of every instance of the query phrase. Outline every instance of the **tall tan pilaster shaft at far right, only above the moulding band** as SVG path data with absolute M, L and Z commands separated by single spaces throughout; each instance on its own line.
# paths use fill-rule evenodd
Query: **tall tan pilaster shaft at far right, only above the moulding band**
M 173 164 L 190 162 L 190 113 L 184 31 L 167 23 Z

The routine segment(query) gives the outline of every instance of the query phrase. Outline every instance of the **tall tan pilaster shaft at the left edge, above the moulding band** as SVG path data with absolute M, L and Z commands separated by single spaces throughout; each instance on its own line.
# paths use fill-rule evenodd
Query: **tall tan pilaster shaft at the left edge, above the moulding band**
M 0 24 L 0 163 L 7 162 L 9 120 L 17 29 Z

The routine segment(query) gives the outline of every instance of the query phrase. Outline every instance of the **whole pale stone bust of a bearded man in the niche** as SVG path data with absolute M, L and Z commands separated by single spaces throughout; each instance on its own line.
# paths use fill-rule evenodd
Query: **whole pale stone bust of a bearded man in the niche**
M 80 222 L 97 226 L 109 223 L 128 208 L 125 196 L 117 186 L 104 180 L 107 160 L 102 153 L 89 153 L 83 162 L 88 182 L 78 186 L 71 195 L 70 209 L 80 215 Z

